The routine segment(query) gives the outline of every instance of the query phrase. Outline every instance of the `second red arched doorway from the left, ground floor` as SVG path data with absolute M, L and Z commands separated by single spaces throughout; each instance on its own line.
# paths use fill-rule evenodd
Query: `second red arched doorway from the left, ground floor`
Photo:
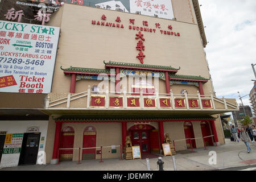
M 93 126 L 87 126 L 84 129 L 84 139 L 82 142 L 82 148 L 89 148 L 82 150 L 82 160 L 96 159 L 96 129 Z

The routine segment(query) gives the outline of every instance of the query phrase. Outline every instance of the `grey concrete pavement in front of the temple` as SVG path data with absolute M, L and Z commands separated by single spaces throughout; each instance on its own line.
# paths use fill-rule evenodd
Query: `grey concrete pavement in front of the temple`
M 256 164 L 256 142 L 250 144 L 251 152 L 247 153 L 245 143 L 231 142 L 225 139 L 226 144 L 215 147 L 196 148 L 195 152 L 177 151 L 175 156 L 177 171 L 208 171 L 208 170 L 232 170 L 236 167 L 246 168 L 254 167 Z M 210 152 L 210 155 L 209 155 Z M 216 152 L 216 153 L 215 153 Z M 181 154 L 182 153 L 182 154 Z M 216 154 L 216 163 L 212 159 Z M 209 163 L 210 159 L 210 164 Z M 174 171 L 174 165 L 171 156 L 163 156 L 165 171 Z M 81 164 L 77 162 L 61 162 L 60 164 L 42 164 L 30 166 L 18 166 L 2 168 L 0 171 L 147 171 L 145 159 L 119 160 L 103 159 L 100 160 L 82 160 Z M 151 171 L 158 171 L 156 162 L 158 158 L 150 159 Z

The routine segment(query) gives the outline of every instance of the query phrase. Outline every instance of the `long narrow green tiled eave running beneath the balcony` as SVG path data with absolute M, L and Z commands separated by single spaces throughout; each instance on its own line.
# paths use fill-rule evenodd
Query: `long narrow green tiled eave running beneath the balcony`
M 55 118 L 55 121 L 91 121 L 91 122 L 110 122 L 110 121 L 187 121 L 187 120 L 200 120 L 200 119 L 216 119 L 214 117 L 211 117 L 210 115 L 205 115 L 202 117 L 116 117 L 116 116 L 88 116 L 88 115 L 63 115 L 59 118 Z

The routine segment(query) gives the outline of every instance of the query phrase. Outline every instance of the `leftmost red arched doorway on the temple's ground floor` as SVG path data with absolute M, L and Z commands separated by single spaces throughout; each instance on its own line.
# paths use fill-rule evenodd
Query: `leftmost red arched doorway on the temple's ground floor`
M 75 131 L 73 127 L 66 126 L 62 129 L 60 148 L 73 148 L 74 147 Z M 71 150 L 60 150 L 60 161 L 73 159 L 73 149 Z

